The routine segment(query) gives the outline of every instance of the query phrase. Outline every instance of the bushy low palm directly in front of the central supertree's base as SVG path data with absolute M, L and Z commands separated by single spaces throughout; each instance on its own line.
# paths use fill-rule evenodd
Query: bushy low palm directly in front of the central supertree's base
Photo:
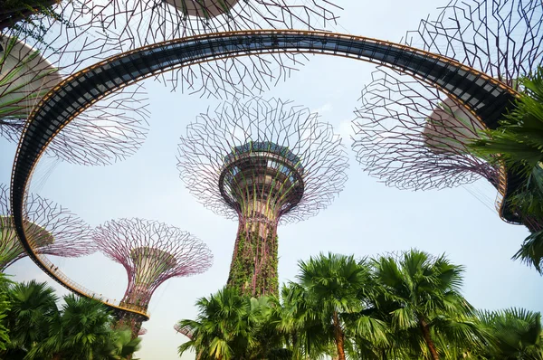
M 194 349 L 199 360 L 256 359 L 262 355 L 262 323 L 267 313 L 266 297 L 243 297 L 236 289 L 224 288 L 209 298 L 196 301 L 196 320 L 179 321 L 190 328 L 192 338 L 179 346 L 179 355 Z M 267 349 L 275 346 L 266 342 Z

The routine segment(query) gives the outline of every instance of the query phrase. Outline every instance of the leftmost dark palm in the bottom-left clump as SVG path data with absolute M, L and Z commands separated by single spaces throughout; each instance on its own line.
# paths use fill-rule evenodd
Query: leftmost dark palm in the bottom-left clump
M 48 319 L 58 316 L 58 298 L 54 289 L 34 280 L 14 284 L 8 298 L 10 310 L 5 320 L 10 329 L 9 351 L 27 352 L 47 337 Z

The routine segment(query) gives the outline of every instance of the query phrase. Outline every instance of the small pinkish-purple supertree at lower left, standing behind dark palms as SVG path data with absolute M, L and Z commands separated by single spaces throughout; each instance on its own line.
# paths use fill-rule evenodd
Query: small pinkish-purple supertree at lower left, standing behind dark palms
M 189 232 L 142 219 L 112 220 L 92 235 L 98 249 L 127 270 L 129 283 L 120 305 L 148 308 L 155 290 L 167 279 L 200 274 L 213 263 L 211 251 Z M 119 312 L 119 326 L 138 336 L 143 318 Z

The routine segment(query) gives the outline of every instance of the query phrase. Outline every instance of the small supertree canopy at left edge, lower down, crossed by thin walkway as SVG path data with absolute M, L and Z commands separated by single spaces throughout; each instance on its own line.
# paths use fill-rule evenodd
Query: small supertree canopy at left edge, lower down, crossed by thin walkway
M 14 230 L 9 209 L 9 189 L 0 185 L 0 270 L 26 256 Z M 41 254 L 78 257 L 96 251 L 90 242 L 90 226 L 52 201 L 30 194 L 27 201 L 25 231 L 30 245 Z

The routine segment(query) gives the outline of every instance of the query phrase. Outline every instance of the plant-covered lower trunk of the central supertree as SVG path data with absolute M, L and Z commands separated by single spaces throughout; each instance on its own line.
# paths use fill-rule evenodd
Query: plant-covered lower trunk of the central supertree
M 277 228 L 267 224 L 265 237 L 259 229 L 247 230 L 240 225 L 233 249 L 228 286 L 243 295 L 259 297 L 277 294 Z

